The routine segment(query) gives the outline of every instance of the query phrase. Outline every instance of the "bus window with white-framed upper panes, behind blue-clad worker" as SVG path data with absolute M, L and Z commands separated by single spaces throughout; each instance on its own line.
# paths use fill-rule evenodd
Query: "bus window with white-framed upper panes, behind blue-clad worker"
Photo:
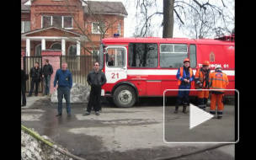
M 188 46 L 183 44 L 160 45 L 160 67 L 178 68 L 183 66 L 184 58 L 188 57 Z

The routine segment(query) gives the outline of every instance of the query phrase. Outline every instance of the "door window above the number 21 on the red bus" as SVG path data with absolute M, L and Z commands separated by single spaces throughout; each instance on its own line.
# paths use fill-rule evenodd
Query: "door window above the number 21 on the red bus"
M 108 67 L 125 67 L 125 50 L 109 49 L 107 56 Z

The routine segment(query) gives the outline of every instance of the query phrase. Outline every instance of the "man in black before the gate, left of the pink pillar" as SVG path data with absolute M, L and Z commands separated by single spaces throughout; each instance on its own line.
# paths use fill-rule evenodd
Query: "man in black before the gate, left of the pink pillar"
M 32 96 L 34 86 L 35 86 L 35 96 L 37 96 L 38 95 L 38 86 L 39 86 L 39 83 L 40 83 L 41 77 L 42 77 L 42 70 L 39 67 L 39 62 L 36 61 L 35 66 L 31 67 L 29 76 L 31 77 L 31 83 L 30 83 L 30 91 L 29 91 L 28 97 Z

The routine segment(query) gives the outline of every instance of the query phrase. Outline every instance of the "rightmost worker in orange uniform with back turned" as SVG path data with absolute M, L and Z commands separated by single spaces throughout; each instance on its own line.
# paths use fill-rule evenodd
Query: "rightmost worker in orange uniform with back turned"
M 216 102 L 217 102 L 217 118 L 221 119 L 223 114 L 223 101 L 224 101 L 224 89 L 228 84 L 227 74 L 222 72 L 222 68 L 220 66 L 216 67 L 215 72 L 211 73 L 210 76 L 210 88 L 211 89 L 219 89 L 219 90 L 211 90 L 211 107 L 210 114 L 216 115 Z M 223 89 L 223 90 L 222 90 Z

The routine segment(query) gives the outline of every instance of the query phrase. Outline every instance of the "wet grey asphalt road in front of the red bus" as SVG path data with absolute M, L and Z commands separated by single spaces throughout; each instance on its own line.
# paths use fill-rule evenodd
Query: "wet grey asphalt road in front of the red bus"
M 225 104 L 221 120 L 207 120 L 189 130 L 189 114 L 183 114 L 181 107 L 178 114 L 173 114 L 173 99 L 165 101 L 165 107 L 163 99 L 152 98 L 141 99 L 134 107 L 126 109 L 103 104 L 99 116 L 93 112 L 83 116 L 87 104 L 72 104 L 72 117 L 67 117 L 65 107 L 62 116 L 56 117 L 57 104 L 51 103 L 50 98 L 27 100 L 27 106 L 21 109 L 22 125 L 34 128 L 41 136 L 49 136 L 78 157 L 235 159 L 234 143 L 207 149 L 223 141 L 236 141 L 233 104 Z M 185 156 L 186 153 L 192 154 Z M 180 157 L 181 154 L 184 156 Z

